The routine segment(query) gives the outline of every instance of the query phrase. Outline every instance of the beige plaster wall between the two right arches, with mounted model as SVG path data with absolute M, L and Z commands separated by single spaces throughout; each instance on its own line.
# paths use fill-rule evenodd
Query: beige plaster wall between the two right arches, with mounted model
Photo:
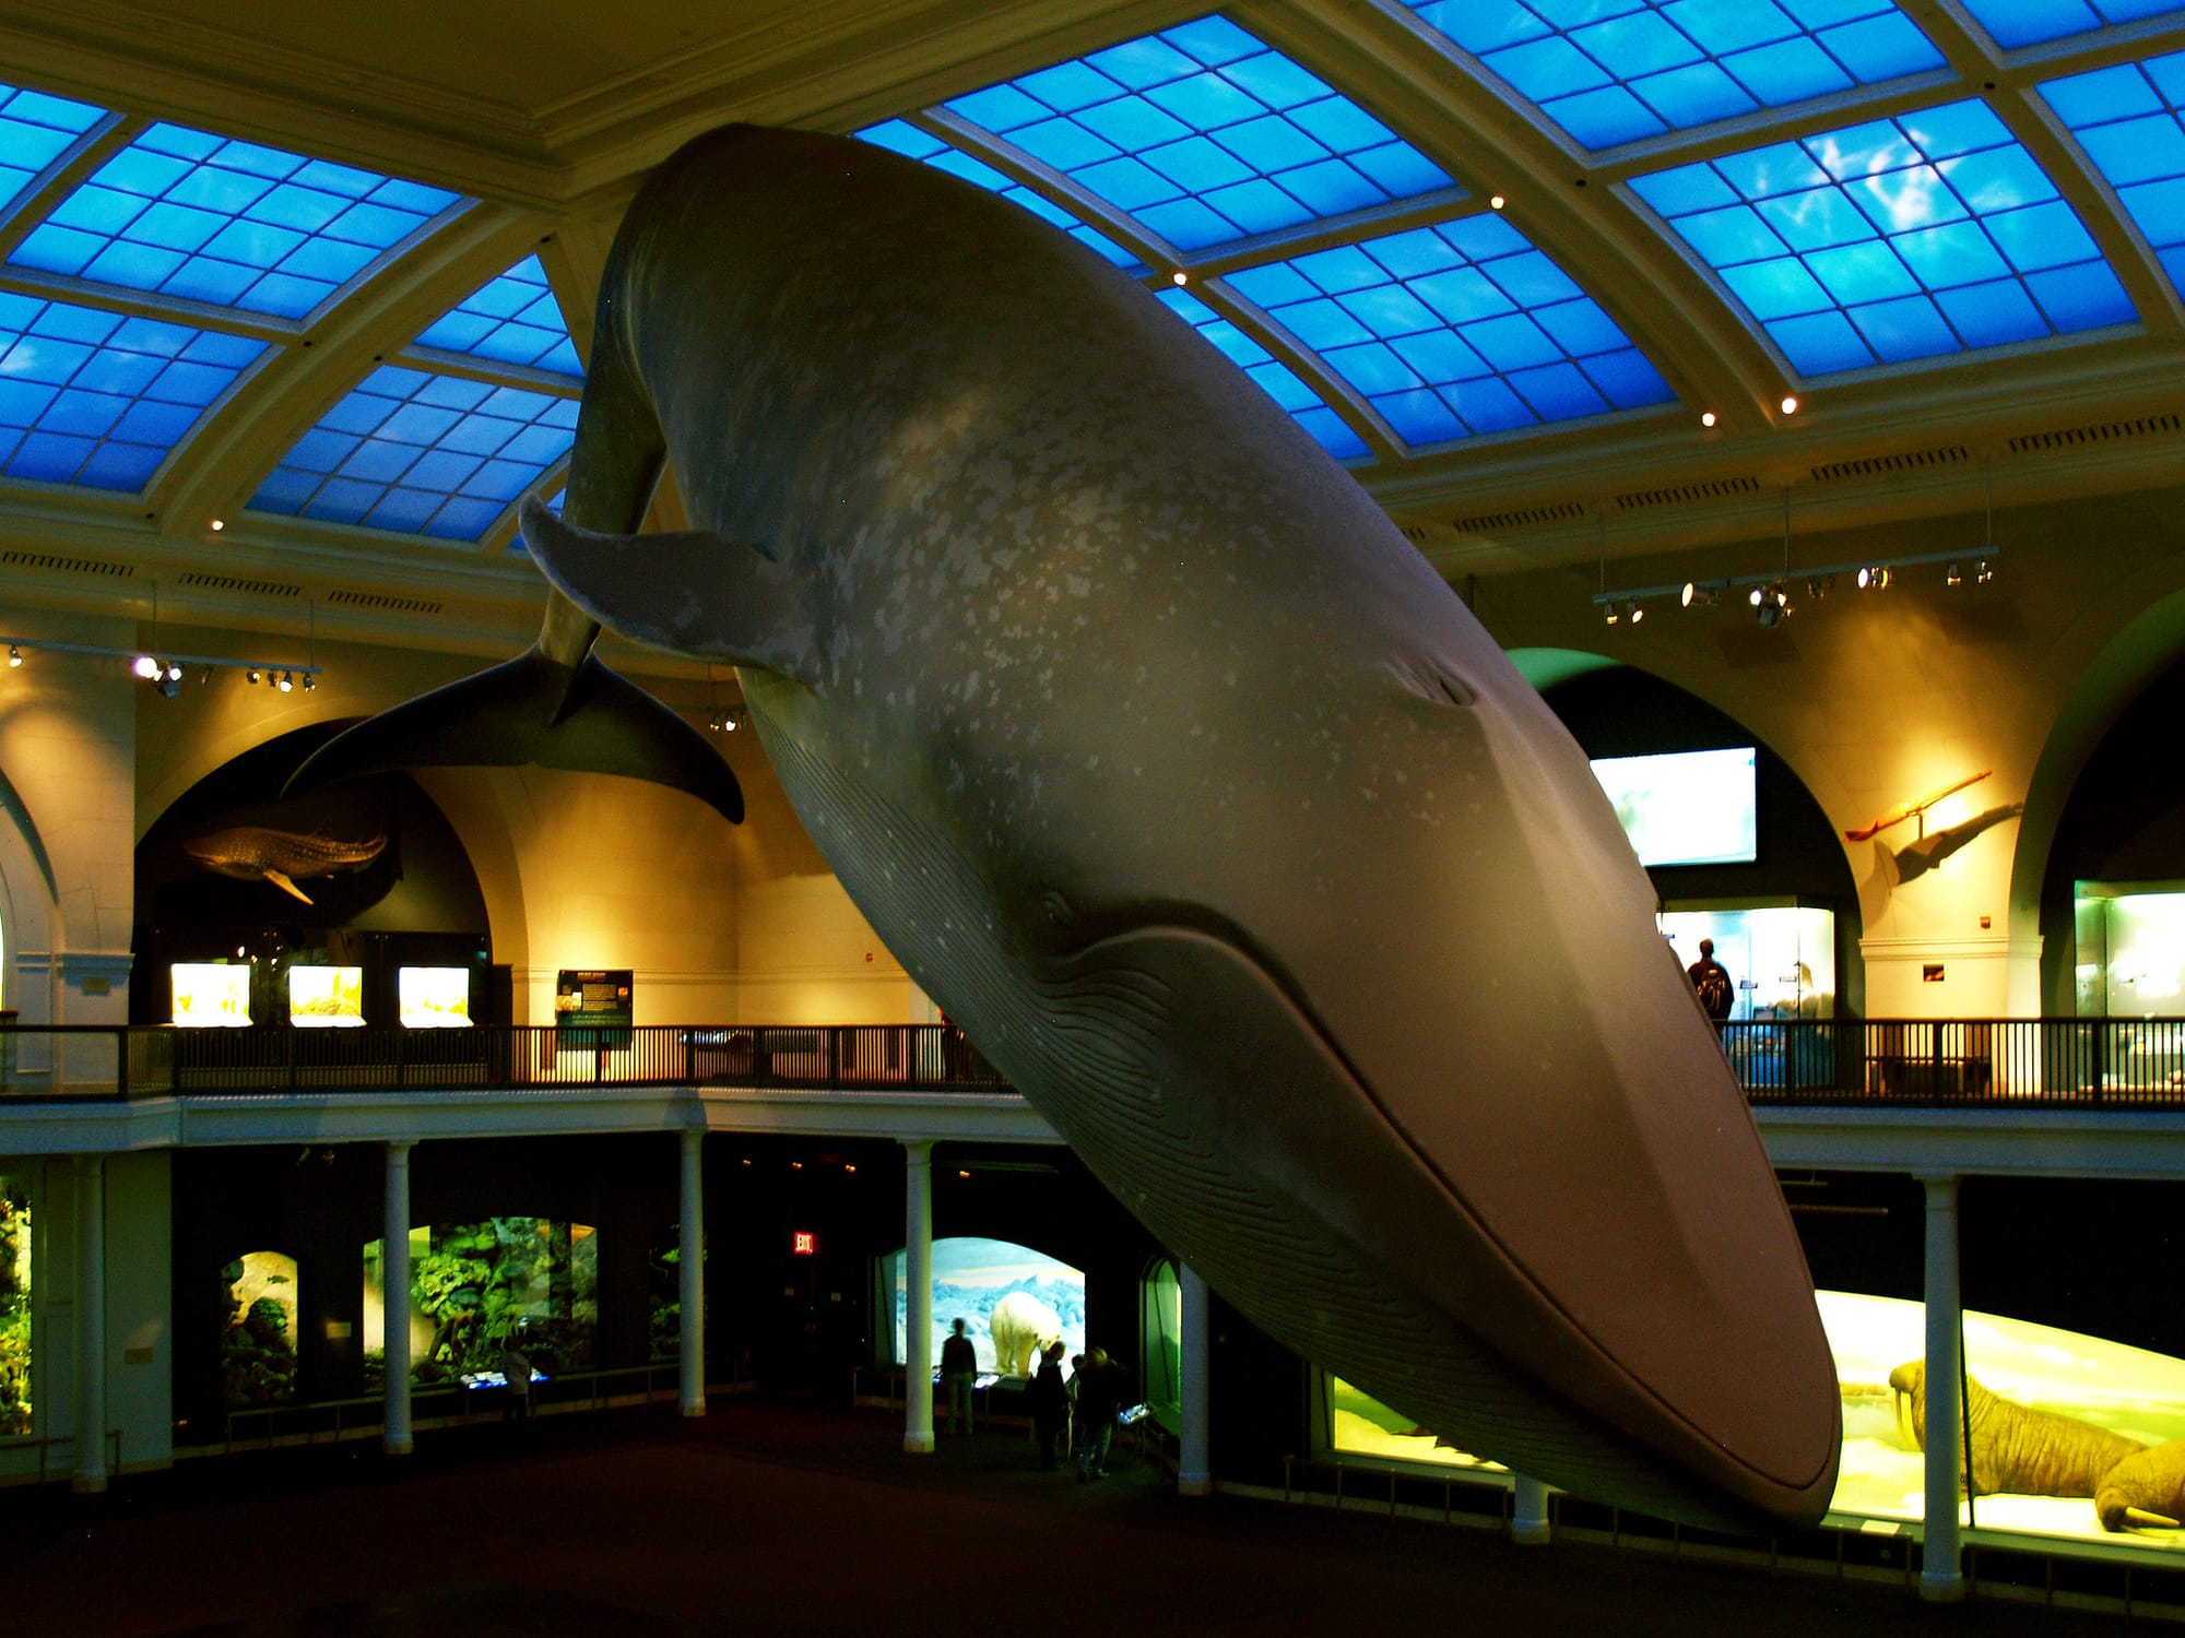
M 1870 1016 L 2034 1013 L 2039 885 L 2071 778 L 2148 677 L 2185 653 L 2181 500 L 2150 491 L 1997 509 L 1997 579 L 1984 587 L 1971 579 L 1991 539 L 1977 511 L 1831 533 L 1800 531 L 1794 509 L 1794 612 L 1776 629 L 1728 598 L 1715 609 L 1663 601 L 1639 627 L 1604 627 L 1591 601 L 1597 563 L 1486 579 L 1475 607 L 1503 646 L 1602 653 L 1737 719 L 1840 832 L 1971 773 L 1988 778 L 1932 808 L 1929 832 L 2034 793 L 2025 819 L 1997 823 L 1910 882 L 1894 880 L 1890 854 L 1916 839 L 1916 823 L 1844 841 Z M 1927 566 L 1901 570 L 1886 592 L 1862 594 L 1844 579 L 1814 601 L 1798 572 L 1938 550 L 1962 550 L 1964 585 L 1947 587 L 1942 568 Z M 1776 535 L 1613 559 L 1606 579 L 1615 590 L 1752 574 L 1779 568 L 1783 553 Z M 2126 662 L 2117 653 L 2128 629 Z M 1940 983 L 1923 981 L 1934 963 Z

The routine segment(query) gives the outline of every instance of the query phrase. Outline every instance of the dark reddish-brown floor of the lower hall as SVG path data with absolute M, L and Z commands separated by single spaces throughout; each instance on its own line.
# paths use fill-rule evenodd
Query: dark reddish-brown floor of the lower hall
M 878 1411 L 717 1400 L 0 1492 L 7 1638 L 666 1634 L 2019 1634 L 2119 1616 L 1042 1474 L 1020 1433 L 905 1457 Z M 2154 1627 L 2176 1631 L 2176 1627 Z

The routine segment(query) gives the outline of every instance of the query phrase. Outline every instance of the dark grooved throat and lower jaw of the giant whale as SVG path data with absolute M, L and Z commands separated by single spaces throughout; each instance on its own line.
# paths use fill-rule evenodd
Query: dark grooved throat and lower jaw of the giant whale
M 911 952 L 913 978 L 1025 1088 L 1092 1175 L 1239 1313 L 1405 1415 L 1460 1433 L 1475 1455 L 1578 1494 L 1613 1494 L 1722 1529 L 1755 1529 L 1785 1511 L 1818 1520 L 1833 1463 L 1820 1474 L 1750 1472 L 1689 1424 L 1678 1426 L 1674 1409 L 1637 1404 L 1634 1417 L 1645 1396 L 1626 1385 L 1626 1426 L 1637 1420 L 1680 1446 L 1665 1459 L 1549 1374 L 1484 1341 L 1481 1330 L 1508 1341 L 1512 1328 L 1530 1328 L 1516 1352 L 1584 1352 L 1584 1339 L 1547 1304 L 1525 1319 L 1510 1313 L 1508 1280 L 1497 1289 L 1492 1275 L 1466 1275 L 1481 1310 L 1451 1313 L 1396 1275 L 1387 1251 L 1481 1238 L 1477 1225 L 1416 1221 L 1436 1195 L 1416 1155 L 1407 1158 L 1416 1177 L 1403 1190 L 1416 1230 L 1407 1247 L 1377 1245 L 1385 1227 L 1359 1221 L 1355 1199 L 1328 1197 L 1326 1179 L 1296 1175 L 1287 1142 L 1309 1129 L 1337 1171 L 1344 1162 L 1359 1168 L 1353 1195 L 1385 1192 L 1401 1140 L 1385 1136 L 1366 1168 L 1359 1144 L 1372 1144 L 1374 1133 L 1361 1112 L 1372 1101 L 1318 1029 L 1296 1022 L 1291 1000 L 1256 963 L 1204 933 L 1149 926 L 1101 939 L 1027 987 L 1023 957 L 994 933 L 1003 917 L 972 867 L 900 804 L 784 732 L 765 714 L 763 695 L 754 690 L 752 710 L 773 769 L 878 935 Z M 1160 965 L 1178 959 L 1195 961 L 1200 981 L 1208 965 L 1226 963 L 1221 1005 L 1256 1016 L 1176 1018 L 1176 985 Z M 1289 1013 L 1291 1024 L 1274 1037 L 1285 1051 L 1265 1051 L 1269 1013 Z M 1184 1075 L 1165 1072 L 1162 1040 L 1213 1057 Z M 1300 1085 L 1324 1096 L 1300 1096 Z M 1337 1107 L 1342 1099 L 1348 1109 Z M 1446 1199 L 1438 1214 L 1460 1216 Z M 1479 1251 L 1466 1258 L 1479 1260 Z M 1696 1457 L 1702 1472 L 1713 1459 L 1717 1487 L 1685 1479 Z

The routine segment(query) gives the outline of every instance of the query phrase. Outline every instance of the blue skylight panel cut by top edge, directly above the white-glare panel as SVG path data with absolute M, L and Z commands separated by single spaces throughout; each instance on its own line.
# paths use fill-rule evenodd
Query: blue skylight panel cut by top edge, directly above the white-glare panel
M 1897 0 L 1405 0 L 1584 149 L 1942 68 Z

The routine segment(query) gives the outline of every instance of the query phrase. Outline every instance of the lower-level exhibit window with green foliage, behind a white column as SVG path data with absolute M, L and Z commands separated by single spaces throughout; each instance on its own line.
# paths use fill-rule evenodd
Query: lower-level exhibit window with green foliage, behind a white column
M 492 1374 L 513 1337 L 535 1372 L 590 1369 L 599 1328 L 599 1232 L 546 1216 L 413 1227 L 411 1380 Z M 387 1247 L 365 1245 L 365 1376 L 387 1358 Z M 367 1389 L 369 1391 L 369 1389 Z

